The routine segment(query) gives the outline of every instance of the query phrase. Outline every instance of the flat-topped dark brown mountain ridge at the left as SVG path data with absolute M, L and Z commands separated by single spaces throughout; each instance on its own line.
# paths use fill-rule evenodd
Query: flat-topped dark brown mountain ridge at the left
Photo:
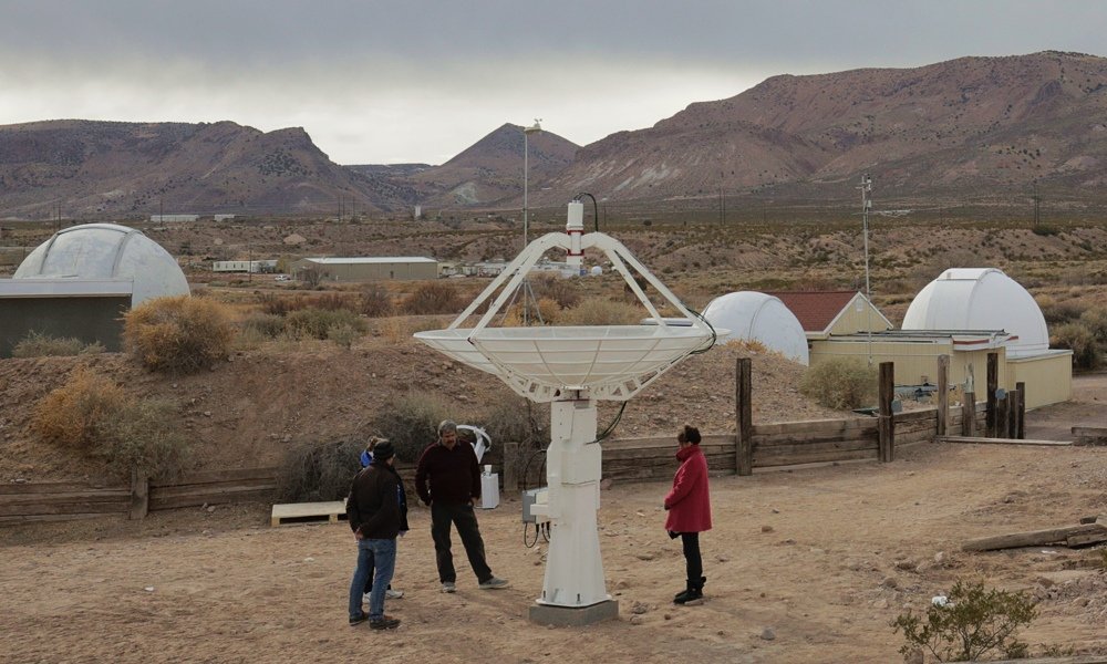
M 0 126 L 0 214 L 14 217 L 379 210 L 370 176 L 299 127 L 51 121 Z

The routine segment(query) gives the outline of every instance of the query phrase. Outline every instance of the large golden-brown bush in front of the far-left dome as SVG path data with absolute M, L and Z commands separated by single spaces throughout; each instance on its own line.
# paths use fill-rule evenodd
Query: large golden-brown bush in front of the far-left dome
M 214 300 L 177 295 L 148 300 L 124 314 L 127 350 L 152 371 L 189 373 L 227 355 L 235 329 Z

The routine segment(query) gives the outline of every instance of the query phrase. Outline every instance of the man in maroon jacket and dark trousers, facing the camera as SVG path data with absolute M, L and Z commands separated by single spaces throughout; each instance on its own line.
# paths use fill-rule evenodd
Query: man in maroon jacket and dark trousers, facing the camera
M 454 557 L 449 552 L 451 525 L 457 527 L 479 588 L 506 588 L 507 581 L 497 579 L 488 568 L 484 540 L 473 510 L 480 498 L 477 455 L 469 445 L 457 444 L 457 425 L 449 419 L 438 425 L 437 442 L 423 450 L 415 466 L 415 491 L 424 504 L 431 506 L 431 538 L 434 540 L 442 592 L 457 590 Z

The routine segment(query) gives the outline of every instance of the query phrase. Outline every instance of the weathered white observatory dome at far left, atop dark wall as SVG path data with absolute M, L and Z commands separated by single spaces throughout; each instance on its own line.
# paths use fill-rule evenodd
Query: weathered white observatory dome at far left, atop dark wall
M 115 224 L 59 230 L 20 263 L 13 279 L 130 279 L 131 305 L 164 295 L 187 295 L 177 261 L 141 231 Z

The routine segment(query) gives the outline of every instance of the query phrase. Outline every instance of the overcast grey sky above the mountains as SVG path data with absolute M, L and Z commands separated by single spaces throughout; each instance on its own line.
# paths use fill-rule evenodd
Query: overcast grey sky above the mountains
M 0 0 L 0 124 L 301 126 L 441 164 L 505 122 L 580 145 L 775 74 L 1107 56 L 1099 0 Z

